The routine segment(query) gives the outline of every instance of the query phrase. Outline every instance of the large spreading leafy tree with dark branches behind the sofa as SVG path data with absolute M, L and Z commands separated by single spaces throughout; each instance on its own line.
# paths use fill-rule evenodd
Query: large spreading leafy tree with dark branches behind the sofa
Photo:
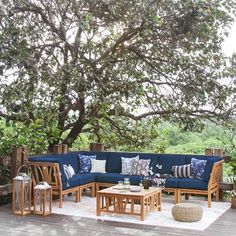
M 221 52 L 234 0 L 0 4 L 1 116 L 56 125 L 55 143 L 99 133 L 101 119 L 113 132 L 148 116 L 189 129 L 235 109 Z

